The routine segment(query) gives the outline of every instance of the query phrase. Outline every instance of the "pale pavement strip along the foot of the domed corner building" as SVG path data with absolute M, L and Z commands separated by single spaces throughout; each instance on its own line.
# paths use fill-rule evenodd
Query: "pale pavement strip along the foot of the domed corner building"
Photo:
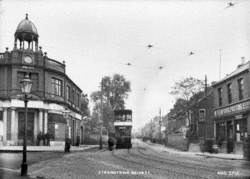
M 71 146 L 71 152 L 80 152 L 91 148 L 96 148 L 98 145 L 80 145 Z M 22 152 L 23 146 L 0 146 L 0 152 Z M 64 146 L 27 146 L 28 152 L 64 152 Z

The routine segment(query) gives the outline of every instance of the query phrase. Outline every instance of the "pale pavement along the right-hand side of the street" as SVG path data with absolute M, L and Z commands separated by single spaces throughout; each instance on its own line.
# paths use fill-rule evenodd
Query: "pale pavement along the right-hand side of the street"
M 191 151 L 180 151 L 178 149 L 165 147 L 161 144 L 146 142 L 149 147 L 154 150 L 168 152 L 173 154 L 179 155 L 192 155 L 192 156 L 204 156 L 206 158 L 218 158 L 218 159 L 225 159 L 225 160 L 244 160 L 243 155 L 240 154 L 227 154 L 227 153 L 208 153 L 208 152 L 191 152 Z

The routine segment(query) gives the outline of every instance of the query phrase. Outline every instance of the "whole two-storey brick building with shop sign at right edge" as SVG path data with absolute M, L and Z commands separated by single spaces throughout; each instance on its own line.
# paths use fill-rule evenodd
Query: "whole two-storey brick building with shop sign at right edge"
M 250 135 L 250 62 L 214 87 L 214 128 L 221 152 L 243 153 L 243 142 Z

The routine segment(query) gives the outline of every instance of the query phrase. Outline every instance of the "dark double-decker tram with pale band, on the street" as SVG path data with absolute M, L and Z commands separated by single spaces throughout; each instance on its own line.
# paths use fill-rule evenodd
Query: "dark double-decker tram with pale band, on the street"
M 131 143 L 131 130 L 132 130 L 132 110 L 115 110 L 115 138 L 117 149 L 130 149 Z

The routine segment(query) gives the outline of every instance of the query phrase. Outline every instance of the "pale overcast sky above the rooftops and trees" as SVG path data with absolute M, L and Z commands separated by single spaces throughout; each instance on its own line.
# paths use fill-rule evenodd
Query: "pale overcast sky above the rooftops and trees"
M 126 107 L 139 129 L 160 108 L 165 115 L 173 107 L 169 92 L 176 81 L 205 75 L 209 83 L 218 81 L 241 57 L 249 60 L 250 2 L 226 8 L 228 2 L 0 0 L 0 52 L 14 47 L 16 27 L 28 13 L 43 51 L 66 61 L 66 73 L 84 93 L 99 90 L 106 75 L 119 73 L 131 82 Z

